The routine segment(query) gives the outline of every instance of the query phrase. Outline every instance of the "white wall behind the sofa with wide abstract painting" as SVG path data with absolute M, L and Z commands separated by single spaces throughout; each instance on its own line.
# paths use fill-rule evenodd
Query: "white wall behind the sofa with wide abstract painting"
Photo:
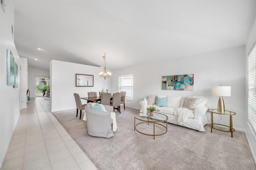
M 185 50 L 185 49 L 184 49 Z M 159 61 L 158 63 L 139 65 L 113 71 L 112 90 L 118 91 L 119 75 L 134 75 L 134 100 L 126 101 L 127 107 L 140 109 L 139 101 L 150 94 L 169 96 L 202 95 L 217 108 L 218 96 L 212 96 L 212 86 L 231 86 L 231 97 L 223 97 L 226 110 L 237 113 L 233 117 L 233 126 L 244 129 L 245 120 L 245 47 L 234 47 L 219 51 Z M 157 57 L 157 56 L 156 56 Z M 194 74 L 194 91 L 162 90 L 162 76 Z M 210 122 L 210 114 L 207 113 Z M 214 117 L 218 123 L 220 117 Z M 229 125 L 229 117 L 222 116 L 220 124 Z

